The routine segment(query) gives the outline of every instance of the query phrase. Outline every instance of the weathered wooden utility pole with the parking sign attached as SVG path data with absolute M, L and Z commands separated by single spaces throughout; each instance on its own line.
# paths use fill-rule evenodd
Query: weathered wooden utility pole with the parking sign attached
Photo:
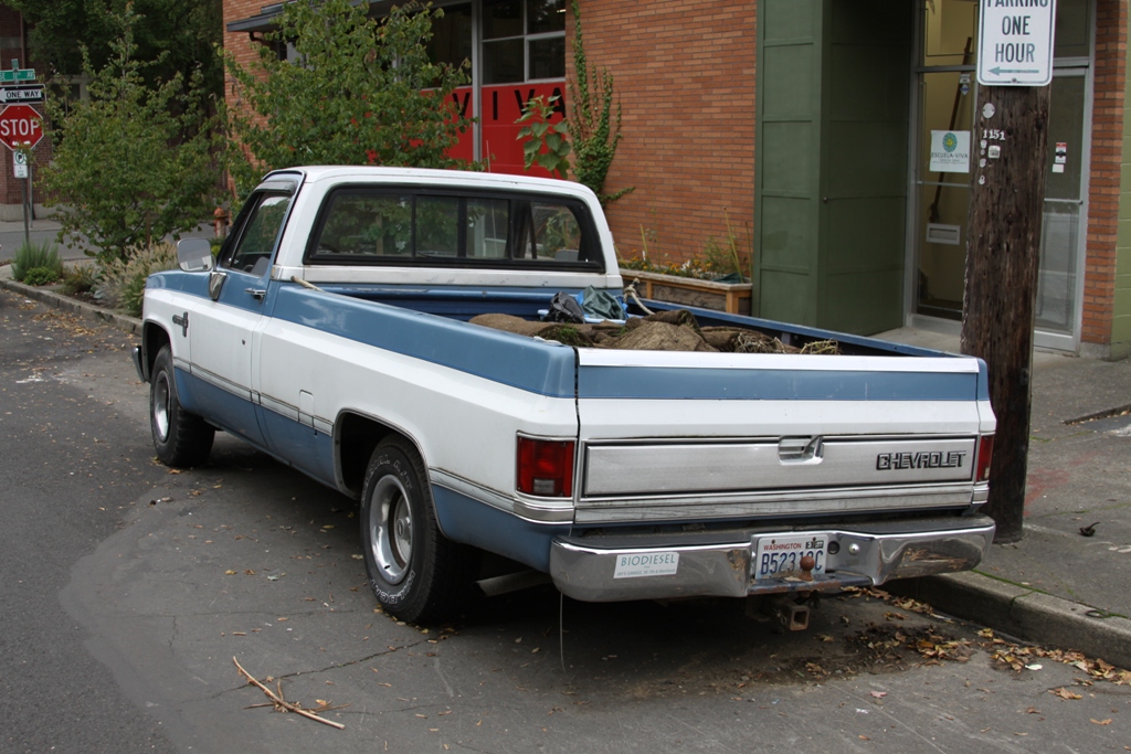
M 990 371 L 998 431 L 986 513 L 998 523 L 995 540 L 1008 543 L 1021 538 L 1025 517 L 1056 3 L 979 6 L 961 350 Z

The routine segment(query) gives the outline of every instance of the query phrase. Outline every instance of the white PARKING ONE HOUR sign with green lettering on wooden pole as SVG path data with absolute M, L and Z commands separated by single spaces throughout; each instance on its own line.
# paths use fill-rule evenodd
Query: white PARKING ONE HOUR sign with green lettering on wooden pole
M 979 0 L 978 84 L 1045 86 L 1053 78 L 1056 0 Z

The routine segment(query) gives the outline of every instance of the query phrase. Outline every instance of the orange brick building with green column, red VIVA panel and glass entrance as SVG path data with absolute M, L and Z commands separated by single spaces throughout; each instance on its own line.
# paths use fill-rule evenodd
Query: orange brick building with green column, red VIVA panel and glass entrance
M 473 61 L 459 154 L 519 172 L 519 103 L 567 92 L 563 0 L 442 0 L 438 59 Z M 371 3 L 386 12 L 387 1 Z M 580 0 L 589 61 L 623 106 L 606 189 L 622 254 L 685 259 L 731 229 L 754 313 L 856 332 L 957 331 L 969 165 L 931 146 L 975 128 L 975 0 Z M 250 62 L 280 5 L 225 0 Z M 1128 0 L 1059 0 L 1038 345 L 1131 353 Z M 1059 146 L 1060 149 L 1054 149 Z

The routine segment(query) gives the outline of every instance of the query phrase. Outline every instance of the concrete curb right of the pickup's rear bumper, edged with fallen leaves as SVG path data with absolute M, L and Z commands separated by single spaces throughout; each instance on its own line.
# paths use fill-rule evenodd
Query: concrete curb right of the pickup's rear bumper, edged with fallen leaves
M 1074 649 L 1131 668 L 1131 619 L 975 571 L 893 581 L 882 587 L 994 631 Z

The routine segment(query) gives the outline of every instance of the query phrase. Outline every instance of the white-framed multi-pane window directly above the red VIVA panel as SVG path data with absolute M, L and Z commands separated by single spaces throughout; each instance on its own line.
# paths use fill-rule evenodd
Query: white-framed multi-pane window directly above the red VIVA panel
M 566 0 L 483 3 L 483 84 L 566 77 Z

